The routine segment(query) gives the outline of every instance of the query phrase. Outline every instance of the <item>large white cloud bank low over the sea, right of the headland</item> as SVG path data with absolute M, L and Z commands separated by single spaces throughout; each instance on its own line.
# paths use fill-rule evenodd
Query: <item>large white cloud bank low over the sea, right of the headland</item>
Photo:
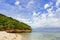
M 51 9 L 48 9 L 48 13 L 43 13 L 39 15 L 36 12 L 33 12 L 32 15 L 32 20 L 31 21 L 26 21 L 24 19 L 23 21 L 32 28 L 37 28 L 37 27 L 60 27 L 60 9 L 58 8 L 57 11 L 53 12 Z M 39 16 L 38 16 L 39 15 Z M 27 19 L 28 20 L 28 19 Z

